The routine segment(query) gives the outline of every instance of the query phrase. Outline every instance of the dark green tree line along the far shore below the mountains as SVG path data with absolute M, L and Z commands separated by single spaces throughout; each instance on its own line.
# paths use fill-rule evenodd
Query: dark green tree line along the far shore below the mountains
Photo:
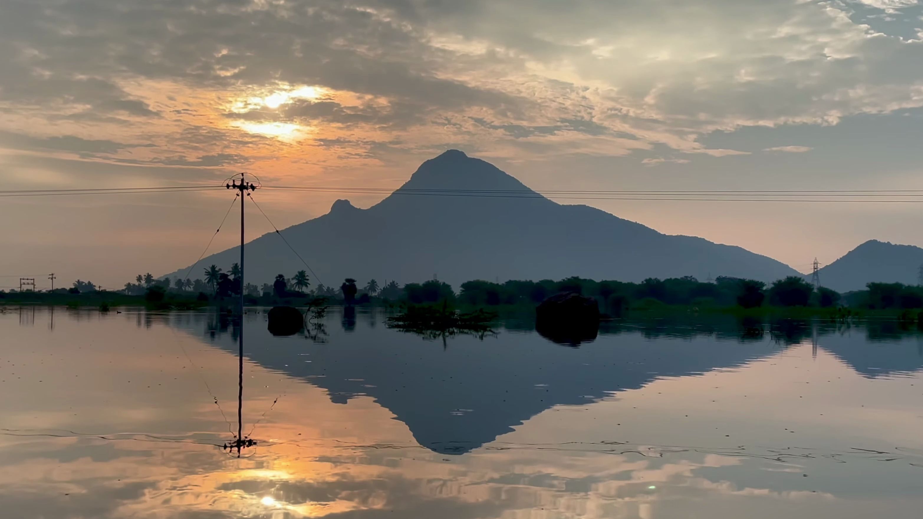
M 138 274 L 136 283 L 125 285 L 125 293 L 144 295 L 150 289 L 191 292 L 212 297 L 239 296 L 240 268 L 237 263 L 224 272 L 210 265 L 195 280 L 175 278 L 155 279 L 150 273 Z M 82 283 L 82 282 L 81 282 Z M 76 284 L 75 284 L 76 286 Z M 600 309 L 617 313 L 636 304 L 658 303 L 674 306 L 719 306 L 760 308 L 819 307 L 890 309 L 923 308 L 923 287 L 905 284 L 870 283 L 868 289 L 843 296 L 827 287 L 815 288 L 803 278 L 789 276 L 772 284 L 760 281 L 719 276 L 714 282 L 701 282 L 695 277 L 648 278 L 641 283 L 620 281 L 595 281 L 581 277 L 562 280 L 522 281 L 510 280 L 494 283 L 473 280 L 462 283 L 456 291 L 450 284 L 438 280 L 423 283 L 398 284 L 395 281 L 378 284 L 375 279 L 365 284 L 347 278 L 337 287 L 314 284 L 306 271 L 294 272 L 291 277 L 278 274 L 271 284 L 246 284 L 246 296 L 299 298 L 328 297 L 347 303 L 364 304 L 379 301 L 404 301 L 414 304 L 449 301 L 471 306 L 536 305 L 546 297 L 560 292 L 575 292 L 593 296 Z

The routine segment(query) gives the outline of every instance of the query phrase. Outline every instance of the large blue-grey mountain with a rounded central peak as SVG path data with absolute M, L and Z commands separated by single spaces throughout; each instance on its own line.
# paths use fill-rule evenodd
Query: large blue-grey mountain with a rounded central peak
M 473 193 L 503 191 L 504 193 Z M 361 210 L 337 200 L 330 212 L 282 230 L 317 272 L 338 286 L 354 277 L 399 283 L 434 275 L 455 287 L 473 279 L 561 279 L 581 276 L 638 282 L 647 277 L 726 275 L 774 281 L 799 275 L 741 247 L 664 235 L 585 205 L 538 195 L 494 165 L 450 150 L 423 163 L 402 187 Z M 234 247 L 202 259 L 227 270 Z M 279 236 L 246 247 L 246 278 L 269 283 L 304 269 Z M 184 274 L 172 272 L 170 277 Z M 193 277 L 200 277 L 201 269 Z M 318 279 L 312 279 L 318 284 Z

